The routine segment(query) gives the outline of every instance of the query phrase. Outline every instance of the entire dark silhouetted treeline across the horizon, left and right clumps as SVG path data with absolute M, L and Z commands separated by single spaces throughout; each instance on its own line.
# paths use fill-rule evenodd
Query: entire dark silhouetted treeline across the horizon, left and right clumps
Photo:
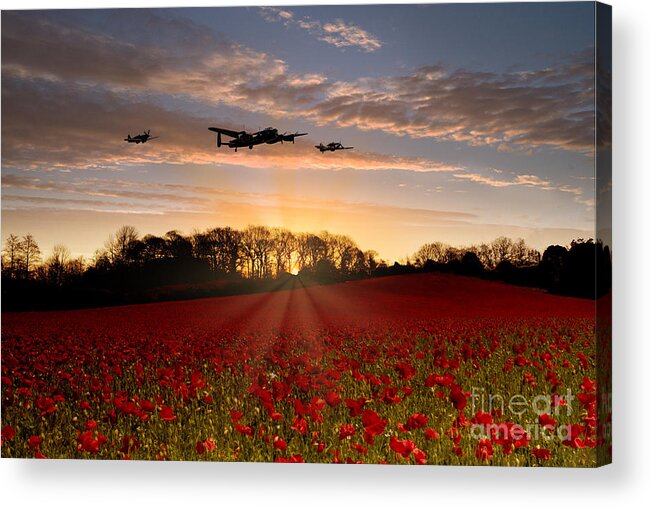
M 550 246 L 541 255 L 522 239 L 500 237 L 465 248 L 427 243 L 389 266 L 375 251 L 363 251 L 348 236 L 327 231 L 249 226 L 140 236 L 125 225 L 92 259 L 75 258 L 64 245 L 43 259 L 33 236 L 9 235 L 2 251 L 2 309 L 189 299 L 423 271 L 594 298 L 610 289 L 610 251 L 592 240 L 576 240 L 567 248 Z

